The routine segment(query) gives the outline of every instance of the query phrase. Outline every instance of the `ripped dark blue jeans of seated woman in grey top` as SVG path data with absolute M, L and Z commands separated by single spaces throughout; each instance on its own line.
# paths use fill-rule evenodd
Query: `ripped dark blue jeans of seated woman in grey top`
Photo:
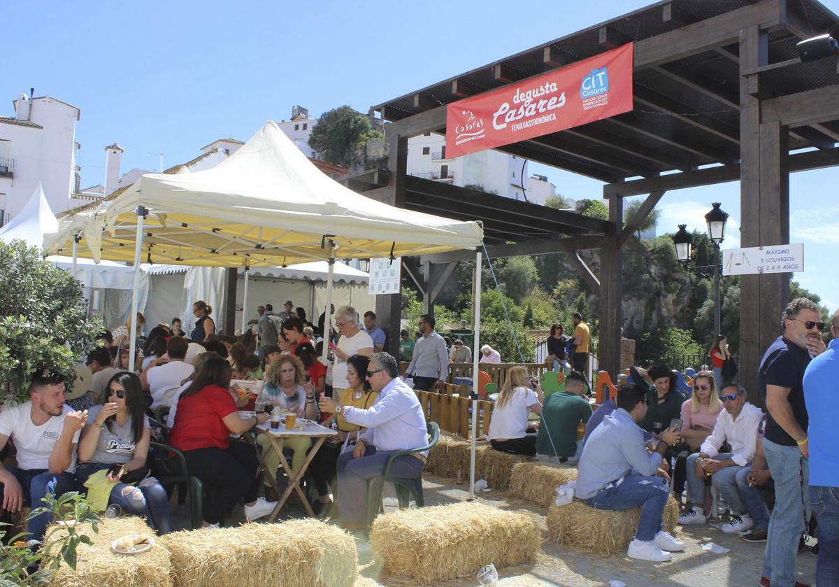
M 76 484 L 78 489 L 87 493 L 85 481 L 91 474 L 102 469 L 108 469 L 111 464 L 82 463 L 76 469 Z M 116 504 L 133 516 L 141 516 L 149 521 L 149 526 L 157 530 L 158 534 L 172 532 L 172 522 L 169 518 L 169 495 L 163 485 L 154 483 L 145 487 L 132 487 L 124 483 L 117 483 L 111 489 L 111 496 L 107 501 Z

